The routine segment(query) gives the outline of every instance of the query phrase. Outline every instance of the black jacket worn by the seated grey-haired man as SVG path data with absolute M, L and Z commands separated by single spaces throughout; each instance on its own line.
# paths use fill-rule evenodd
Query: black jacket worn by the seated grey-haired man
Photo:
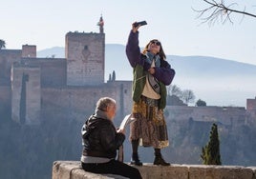
M 82 138 L 83 155 L 116 158 L 125 135 L 117 133 L 112 121 L 92 115 L 82 127 Z

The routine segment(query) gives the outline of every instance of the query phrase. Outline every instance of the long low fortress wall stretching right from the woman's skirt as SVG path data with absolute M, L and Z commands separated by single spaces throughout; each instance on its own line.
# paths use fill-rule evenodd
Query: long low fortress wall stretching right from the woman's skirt
M 245 108 L 167 106 L 169 120 L 218 121 L 224 125 L 245 123 Z

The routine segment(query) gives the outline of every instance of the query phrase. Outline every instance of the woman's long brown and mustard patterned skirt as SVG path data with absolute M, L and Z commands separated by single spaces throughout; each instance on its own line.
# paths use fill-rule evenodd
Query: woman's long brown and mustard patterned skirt
M 169 146 L 163 110 L 158 108 L 159 100 L 141 96 L 133 104 L 135 122 L 130 125 L 130 140 L 138 140 L 143 147 L 162 149 Z

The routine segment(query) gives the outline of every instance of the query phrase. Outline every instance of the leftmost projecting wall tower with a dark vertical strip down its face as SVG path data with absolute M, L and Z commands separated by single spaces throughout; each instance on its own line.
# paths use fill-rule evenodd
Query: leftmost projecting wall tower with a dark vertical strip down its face
M 11 89 L 12 120 L 26 125 L 38 125 L 41 111 L 40 69 L 13 67 Z

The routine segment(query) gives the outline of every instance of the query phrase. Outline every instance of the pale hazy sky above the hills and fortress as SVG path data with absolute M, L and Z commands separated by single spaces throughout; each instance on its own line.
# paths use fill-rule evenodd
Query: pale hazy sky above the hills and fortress
M 7 49 L 25 44 L 36 45 L 37 50 L 65 47 L 69 31 L 98 32 L 96 23 L 102 14 L 107 44 L 125 45 L 131 24 L 146 20 L 148 25 L 139 30 L 140 47 L 159 38 L 166 54 L 206 55 L 256 65 L 256 18 L 233 15 L 233 25 L 201 25 L 192 8 L 203 9 L 203 0 L 0 1 L 0 39 Z M 237 2 L 234 8 L 256 13 L 256 2 Z

